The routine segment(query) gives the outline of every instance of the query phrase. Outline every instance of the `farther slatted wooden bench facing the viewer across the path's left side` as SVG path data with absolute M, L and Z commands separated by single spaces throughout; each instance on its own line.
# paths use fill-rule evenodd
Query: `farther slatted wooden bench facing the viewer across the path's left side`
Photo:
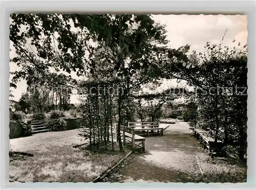
M 133 128 L 134 131 L 142 131 L 143 133 L 146 131 L 147 136 L 150 135 L 150 131 L 154 134 L 163 135 L 164 130 L 164 128 L 159 127 L 159 122 L 128 122 L 128 127 Z M 157 130 L 157 132 L 154 132 L 154 130 Z

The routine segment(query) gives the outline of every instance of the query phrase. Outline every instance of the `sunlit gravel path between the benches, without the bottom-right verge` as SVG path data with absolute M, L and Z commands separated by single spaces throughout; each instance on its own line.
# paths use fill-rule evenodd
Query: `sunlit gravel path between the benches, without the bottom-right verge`
M 164 136 L 146 137 L 146 153 L 133 154 L 123 168 L 113 171 L 105 181 L 195 182 L 196 176 L 201 175 L 196 156 L 206 156 L 199 147 L 187 123 L 172 124 Z

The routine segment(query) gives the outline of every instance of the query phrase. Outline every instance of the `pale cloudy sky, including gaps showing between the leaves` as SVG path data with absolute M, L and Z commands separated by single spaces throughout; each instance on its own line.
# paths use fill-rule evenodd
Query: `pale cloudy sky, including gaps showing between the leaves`
M 177 49 L 189 44 L 190 50 L 204 51 L 206 42 L 219 44 L 227 30 L 223 45 L 237 46 L 247 43 L 247 16 L 246 15 L 153 15 L 155 21 L 166 24 L 168 45 Z M 236 39 L 235 42 L 232 42 Z M 10 43 L 10 58 L 15 56 L 15 50 Z M 10 63 L 10 71 L 15 72 L 19 67 Z M 72 77 L 77 78 L 75 74 Z M 182 84 L 182 83 L 181 83 Z M 26 81 L 18 82 L 16 89 L 12 89 L 13 100 L 18 101 L 22 93 L 26 92 Z M 180 85 L 177 81 L 164 81 L 162 86 Z M 71 103 L 78 103 L 77 96 L 71 96 Z

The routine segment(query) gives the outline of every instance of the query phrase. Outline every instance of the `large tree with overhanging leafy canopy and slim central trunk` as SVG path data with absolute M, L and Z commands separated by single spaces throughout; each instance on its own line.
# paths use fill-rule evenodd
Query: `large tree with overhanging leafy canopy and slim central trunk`
M 150 15 L 11 14 L 11 18 L 10 40 L 17 53 L 11 61 L 22 67 L 14 81 L 24 78 L 28 85 L 37 82 L 50 86 L 50 68 L 54 68 L 103 81 L 110 77 L 115 86 L 122 87 L 117 97 L 120 150 L 122 110 L 134 86 L 139 88 L 162 77 L 162 68 L 173 57 L 188 61 L 184 52 L 189 47 L 168 49 L 165 26 L 155 23 Z M 99 51 L 101 61 L 109 66 L 101 68 L 100 60 L 96 62 Z

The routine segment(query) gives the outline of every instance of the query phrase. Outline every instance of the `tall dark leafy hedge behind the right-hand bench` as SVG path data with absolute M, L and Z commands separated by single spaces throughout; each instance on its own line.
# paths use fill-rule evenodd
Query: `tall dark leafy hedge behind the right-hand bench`
M 198 126 L 210 130 L 215 141 L 239 146 L 239 157 L 246 152 L 247 131 L 247 49 L 206 44 L 204 54 L 197 54 L 197 66 L 177 72 L 197 87 Z M 176 65 L 177 66 L 177 65 Z M 174 70 L 178 67 L 174 66 Z M 194 112 L 196 116 L 196 112 Z M 195 123 L 191 124 L 195 125 Z

